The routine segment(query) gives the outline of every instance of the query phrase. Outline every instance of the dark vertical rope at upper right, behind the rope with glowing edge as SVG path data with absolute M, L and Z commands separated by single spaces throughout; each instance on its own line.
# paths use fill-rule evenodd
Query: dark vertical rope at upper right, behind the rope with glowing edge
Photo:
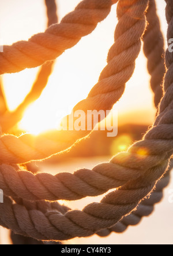
M 156 3 L 149 2 L 149 9 L 146 13 L 148 29 L 143 36 L 144 53 L 148 59 L 148 72 L 151 74 L 151 88 L 155 93 L 155 106 L 160 103 L 163 96 L 163 76 L 166 72 L 164 64 L 164 39 L 160 30 L 160 21 L 156 13 Z

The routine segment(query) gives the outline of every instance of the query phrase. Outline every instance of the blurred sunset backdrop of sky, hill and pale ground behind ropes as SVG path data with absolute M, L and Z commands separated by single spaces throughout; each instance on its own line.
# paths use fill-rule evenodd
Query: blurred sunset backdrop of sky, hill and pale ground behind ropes
M 80 0 L 58 0 L 59 21 L 79 2 Z M 166 3 L 160 0 L 156 2 L 161 30 L 166 38 Z M 0 3 L 1 44 L 10 45 L 16 41 L 28 40 L 33 34 L 44 32 L 46 29 L 46 6 L 43 0 L 0 0 Z M 101 70 L 107 64 L 107 53 L 114 43 L 117 22 L 116 5 L 114 5 L 107 19 L 97 25 L 91 35 L 85 36 L 73 49 L 66 50 L 58 57 L 42 95 L 27 108 L 21 122 L 10 131 L 11 133 L 39 134 L 42 131 L 56 129 L 61 115 L 69 114 L 78 101 L 87 97 L 93 85 L 97 83 Z M 1 77 L 3 95 L 9 111 L 14 111 L 29 93 L 38 70 L 39 68 L 32 68 Z M 73 173 L 81 167 L 92 169 L 96 164 L 108 161 L 115 153 L 125 151 L 134 141 L 140 140 L 147 127 L 152 125 L 156 115 L 149 80 L 146 58 L 141 51 L 136 61 L 136 71 L 127 82 L 121 100 L 112 109 L 112 112 L 118 111 L 118 136 L 108 138 L 107 131 L 93 131 L 89 138 L 77 144 L 70 152 L 54 156 L 42 163 L 35 163 L 35 166 L 40 171 L 52 174 L 61 171 Z M 144 218 L 140 225 L 130 227 L 125 233 L 120 235 L 114 233 L 106 238 L 95 235 L 64 243 L 172 243 L 173 204 L 168 201 L 171 188 L 173 183 L 165 190 L 163 201 L 156 206 L 155 213 L 151 217 Z M 65 204 L 73 209 L 82 209 L 88 203 L 99 202 L 101 197 L 65 202 Z M 0 232 L 0 243 L 11 243 L 9 232 L 2 228 Z

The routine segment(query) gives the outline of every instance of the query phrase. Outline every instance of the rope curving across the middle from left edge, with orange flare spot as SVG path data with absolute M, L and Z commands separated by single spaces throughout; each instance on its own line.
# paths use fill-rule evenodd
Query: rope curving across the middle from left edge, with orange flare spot
M 162 136 L 161 132 L 159 136 Z M 16 196 L 28 200 L 77 200 L 85 196 L 96 196 L 108 189 L 125 185 L 134 177 L 140 177 L 143 167 L 147 170 L 157 166 L 168 158 L 167 151 L 170 151 L 171 147 L 172 140 L 167 141 L 167 138 L 164 140 L 162 137 L 149 142 L 139 141 L 129 152 L 115 156 L 110 163 L 99 164 L 92 171 L 81 169 L 74 174 L 61 173 L 53 176 L 33 175 L 26 171 L 16 173 L 13 167 L 2 165 L 1 187 L 6 195 L 12 195 L 13 191 Z M 141 149 L 145 149 L 145 155 L 141 155 Z

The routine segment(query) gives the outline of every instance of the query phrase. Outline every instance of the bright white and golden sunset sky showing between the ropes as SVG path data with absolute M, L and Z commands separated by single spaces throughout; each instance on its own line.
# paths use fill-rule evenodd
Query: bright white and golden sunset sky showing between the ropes
M 58 0 L 58 17 L 72 11 L 80 0 Z M 166 38 L 164 0 L 156 0 L 161 30 Z M 33 34 L 44 32 L 47 24 L 43 0 L 0 0 L 0 42 L 10 45 L 28 40 Z M 85 36 L 72 49 L 57 58 L 54 72 L 48 85 L 36 103 L 29 107 L 20 127 L 31 133 L 57 127 L 59 113 L 70 113 L 78 101 L 87 97 L 97 83 L 101 70 L 107 64 L 107 53 L 114 43 L 117 24 L 116 5 L 91 35 Z M 99 47 L 98 47 L 99 46 Z M 4 93 L 10 111 L 24 99 L 35 81 L 38 68 L 27 69 L 17 74 L 2 76 Z M 149 87 L 150 76 L 146 70 L 146 58 L 141 53 L 136 61 L 133 77 L 126 83 L 121 100 L 114 105 L 119 123 L 145 123 L 151 125 L 155 118 L 153 93 Z

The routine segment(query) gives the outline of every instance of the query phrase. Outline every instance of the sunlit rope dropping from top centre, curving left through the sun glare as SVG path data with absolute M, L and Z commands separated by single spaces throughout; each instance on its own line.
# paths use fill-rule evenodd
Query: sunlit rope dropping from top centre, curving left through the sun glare
M 131 3 L 131 2 L 130 2 Z M 73 111 L 78 109 L 109 110 L 119 100 L 125 90 L 125 84 L 133 74 L 135 60 L 141 49 L 141 36 L 145 30 L 144 6 L 136 2 L 118 13 L 119 23 L 115 30 L 115 43 L 108 54 L 108 64 L 101 72 L 99 82 L 93 87 L 88 97 L 80 101 Z M 119 8 L 121 9 L 121 8 Z M 132 36 L 133 35 L 133 36 Z M 75 121 L 75 118 L 74 118 Z M 93 127 L 92 127 L 93 128 Z M 0 138 L 0 159 L 6 163 L 25 163 L 30 160 L 47 158 L 71 147 L 79 138 L 91 131 L 54 130 L 32 136 L 2 136 Z

